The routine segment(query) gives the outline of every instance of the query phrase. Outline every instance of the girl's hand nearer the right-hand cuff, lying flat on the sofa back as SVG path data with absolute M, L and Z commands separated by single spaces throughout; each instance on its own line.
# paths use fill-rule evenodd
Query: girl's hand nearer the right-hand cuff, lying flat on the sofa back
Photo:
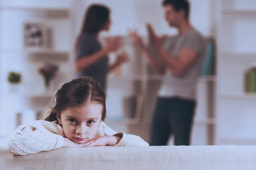
M 121 140 L 119 136 L 99 136 L 96 138 L 91 139 L 88 142 L 91 142 L 86 147 L 93 147 L 93 146 L 113 146 L 117 144 Z

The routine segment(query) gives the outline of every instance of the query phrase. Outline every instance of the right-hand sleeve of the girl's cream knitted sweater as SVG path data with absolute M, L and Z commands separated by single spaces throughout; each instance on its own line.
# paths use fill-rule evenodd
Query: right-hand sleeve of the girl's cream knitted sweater
M 104 122 L 102 122 L 102 132 L 104 135 L 109 136 L 120 136 L 121 140 L 114 146 L 149 146 L 140 136 L 126 134 L 123 132 L 116 133 L 113 129 L 108 127 Z

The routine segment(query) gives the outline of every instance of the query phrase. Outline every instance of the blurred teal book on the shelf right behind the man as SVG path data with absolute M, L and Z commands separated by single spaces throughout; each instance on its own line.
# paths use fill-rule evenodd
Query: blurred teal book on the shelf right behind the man
M 207 44 L 207 52 L 200 75 L 215 75 L 215 45 L 213 41 L 209 41 Z

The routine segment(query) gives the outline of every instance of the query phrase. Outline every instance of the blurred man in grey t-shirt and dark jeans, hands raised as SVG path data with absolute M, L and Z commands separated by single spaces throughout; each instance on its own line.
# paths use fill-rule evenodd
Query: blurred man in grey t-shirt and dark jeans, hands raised
M 164 0 L 162 5 L 166 22 L 179 33 L 166 38 L 161 45 L 161 38 L 151 25 L 147 26 L 160 59 L 151 56 L 136 31 L 130 32 L 152 68 L 165 74 L 158 92 L 150 145 L 166 145 L 170 134 L 174 134 L 175 145 L 189 145 L 196 107 L 195 90 L 206 54 L 206 40 L 189 23 L 187 0 Z

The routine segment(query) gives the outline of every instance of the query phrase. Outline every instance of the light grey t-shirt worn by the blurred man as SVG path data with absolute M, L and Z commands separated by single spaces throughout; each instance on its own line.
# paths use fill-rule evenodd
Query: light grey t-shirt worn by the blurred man
M 198 57 L 181 77 L 173 76 L 167 68 L 158 96 L 195 99 L 196 85 L 206 55 L 207 41 L 198 31 L 191 28 L 185 34 L 167 38 L 164 42 L 164 48 L 174 58 L 177 58 L 181 48 L 190 48 L 197 51 Z

